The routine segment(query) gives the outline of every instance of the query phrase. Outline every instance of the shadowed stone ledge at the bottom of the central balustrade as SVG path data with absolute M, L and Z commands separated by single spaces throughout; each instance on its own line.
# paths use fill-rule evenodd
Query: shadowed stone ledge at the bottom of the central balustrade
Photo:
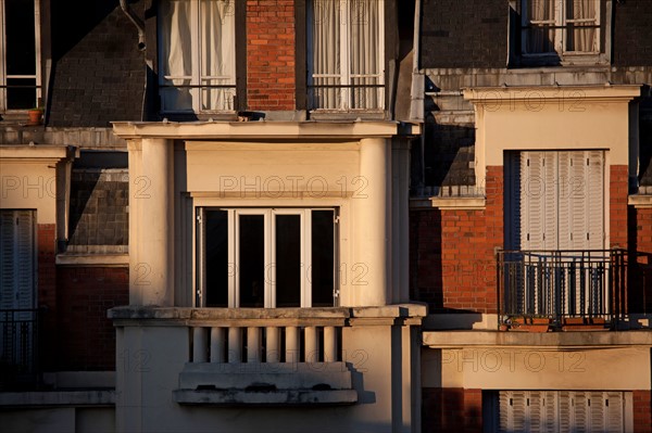
M 238 391 L 238 390 L 175 390 L 173 399 L 180 405 L 213 406 L 331 406 L 358 403 L 354 390 L 313 391 Z

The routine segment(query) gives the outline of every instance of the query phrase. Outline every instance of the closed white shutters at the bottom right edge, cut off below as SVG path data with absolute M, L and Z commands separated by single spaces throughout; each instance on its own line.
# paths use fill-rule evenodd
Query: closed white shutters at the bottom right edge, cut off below
M 616 391 L 500 391 L 499 432 L 620 433 L 625 393 Z

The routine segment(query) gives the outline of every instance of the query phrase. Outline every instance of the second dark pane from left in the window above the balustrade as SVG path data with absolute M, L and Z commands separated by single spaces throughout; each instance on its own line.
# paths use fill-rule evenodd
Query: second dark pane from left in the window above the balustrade
M 263 215 L 240 215 L 240 307 L 262 308 L 265 301 L 265 220 Z

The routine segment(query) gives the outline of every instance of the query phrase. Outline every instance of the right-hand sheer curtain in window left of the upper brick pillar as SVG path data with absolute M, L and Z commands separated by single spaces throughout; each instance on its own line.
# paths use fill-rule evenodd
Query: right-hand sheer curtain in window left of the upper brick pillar
M 235 0 L 202 0 L 201 85 L 236 85 Z M 233 111 L 234 88 L 201 88 L 201 109 Z

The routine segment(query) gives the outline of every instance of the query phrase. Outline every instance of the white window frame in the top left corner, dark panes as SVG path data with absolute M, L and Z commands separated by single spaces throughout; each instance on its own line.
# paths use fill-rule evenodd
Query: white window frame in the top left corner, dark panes
M 25 109 L 10 109 L 8 104 L 8 80 L 13 78 L 33 78 L 35 79 L 36 86 L 36 95 L 34 100 L 34 106 L 42 105 L 42 89 L 41 89 L 41 67 L 40 67 L 40 58 L 41 58 L 41 48 L 40 48 L 40 2 L 38 0 L 34 0 L 34 40 L 35 40 L 35 68 L 34 74 L 27 75 L 8 75 L 7 67 L 7 14 L 5 14 L 5 0 L 0 0 L 0 23 L 2 25 L 2 29 L 0 31 L 0 111 L 24 111 L 29 110 L 32 107 Z

